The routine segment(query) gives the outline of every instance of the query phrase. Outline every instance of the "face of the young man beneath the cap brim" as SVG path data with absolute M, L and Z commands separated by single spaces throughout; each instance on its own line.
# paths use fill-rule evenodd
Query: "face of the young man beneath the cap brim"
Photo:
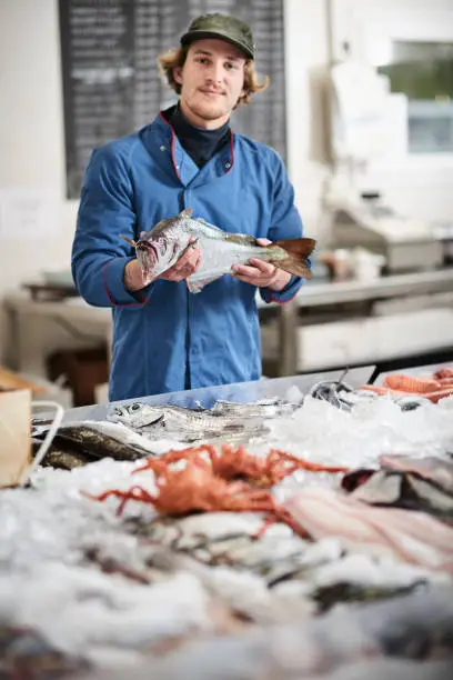
M 224 40 L 193 42 L 184 66 L 174 69 L 188 120 L 207 129 L 224 124 L 243 93 L 244 67 L 242 52 Z

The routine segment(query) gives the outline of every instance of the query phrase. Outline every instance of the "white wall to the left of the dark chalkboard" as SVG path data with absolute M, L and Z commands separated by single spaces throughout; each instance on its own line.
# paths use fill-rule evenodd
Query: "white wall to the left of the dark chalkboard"
M 63 109 L 57 0 L 0 0 L 0 192 L 50 192 L 46 234 L 0 224 L 0 298 L 43 269 L 67 269 L 77 211 L 64 200 Z M 0 213 L 1 217 L 2 213 Z M 7 319 L 0 316 L 0 360 Z

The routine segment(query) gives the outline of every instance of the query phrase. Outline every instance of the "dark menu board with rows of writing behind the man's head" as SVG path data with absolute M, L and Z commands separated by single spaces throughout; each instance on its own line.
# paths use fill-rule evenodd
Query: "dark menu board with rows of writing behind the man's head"
M 283 0 L 60 0 L 68 198 L 79 198 L 93 148 L 175 103 L 158 56 L 179 47 L 194 17 L 217 11 L 250 23 L 256 71 L 271 79 L 234 112 L 232 127 L 285 159 Z

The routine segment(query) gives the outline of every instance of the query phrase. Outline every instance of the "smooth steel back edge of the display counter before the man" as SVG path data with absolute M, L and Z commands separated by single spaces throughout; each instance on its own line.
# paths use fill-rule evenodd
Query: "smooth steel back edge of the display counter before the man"
M 374 368 L 374 366 L 365 366 L 351 369 L 345 376 L 344 381 L 351 387 L 359 387 L 370 380 Z M 288 378 L 264 378 L 253 382 L 235 382 L 233 384 L 222 384 L 198 390 L 187 390 L 183 392 L 168 392 L 153 397 L 141 397 L 140 399 L 125 399 L 123 401 L 80 407 L 78 409 L 68 410 L 64 414 L 63 423 L 79 422 L 81 420 L 104 420 L 112 406 L 122 406 L 133 401 L 143 401 L 152 406 L 173 403 L 188 408 L 195 407 L 200 403 L 204 408 L 211 408 L 218 399 L 239 401 L 242 403 L 272 397 L 285 399 L 289 389 L 292 387 L 296 387 L 302 393 L 305 393 L 313 384 L 321 380 L 339 380 L 343 372 L 344 369 L 325 373 L 290 376 Z

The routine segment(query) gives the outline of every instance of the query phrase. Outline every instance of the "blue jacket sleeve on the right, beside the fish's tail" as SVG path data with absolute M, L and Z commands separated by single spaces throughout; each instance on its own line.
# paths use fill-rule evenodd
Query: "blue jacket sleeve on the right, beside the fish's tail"
M 284 164 L 278 156 L 272 193 L 273 207 L 268 238 L 271 241 L 301 238 L 303 236 L 303 226 L 294 204 L 294 189 L 289 180 Z M 264 302 L 289 302 L 294 298 L 302 282 L 303 279 L 300 277 L 291 277 L 290 282 L 283 290 L 276 292 L 270 288 L 260 288 L 260 294 Z

